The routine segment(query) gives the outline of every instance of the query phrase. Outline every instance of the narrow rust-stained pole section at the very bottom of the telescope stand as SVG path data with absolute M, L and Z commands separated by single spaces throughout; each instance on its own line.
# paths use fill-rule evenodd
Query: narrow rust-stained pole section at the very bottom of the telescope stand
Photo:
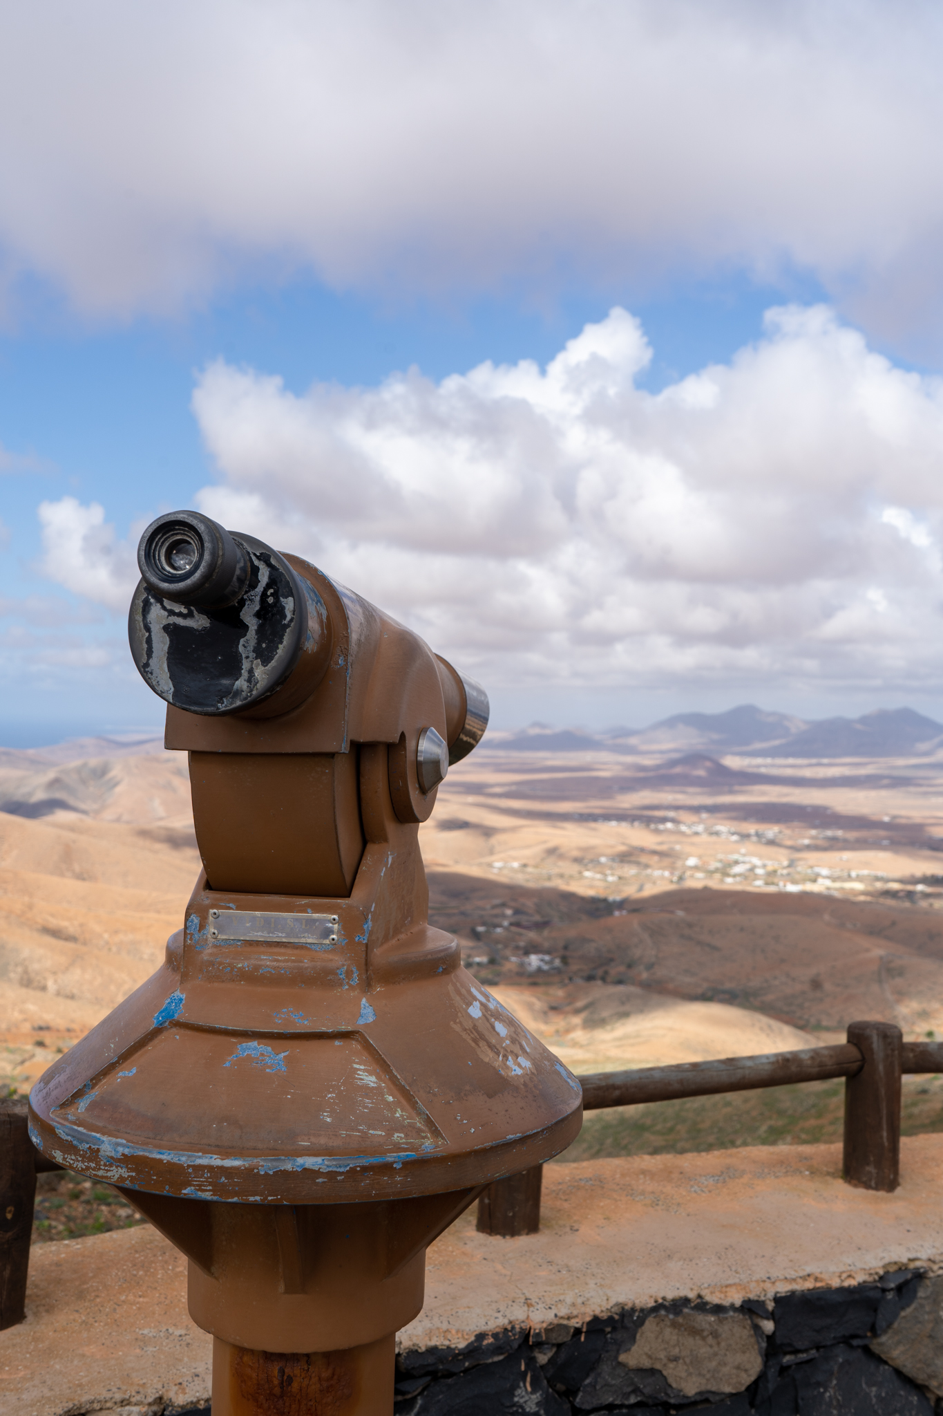
M 213 1416 L 392 1416 L 396 1334 L 334 1352 L 257 1352 L 213 1338 Z

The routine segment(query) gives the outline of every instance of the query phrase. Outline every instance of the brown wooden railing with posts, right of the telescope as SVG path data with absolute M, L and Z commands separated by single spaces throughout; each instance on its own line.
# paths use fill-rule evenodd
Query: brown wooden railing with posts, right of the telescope
M 864 1189 L 901 1182 L 901 1076 L 943 1072 L 943 1042 L 903 1042 L 892 1022 L 853 1022 L 848 1041 L 795 1052 L 592 1072 L 577 1080 L 584 1112 L 684 1096 L 715 1096 L 795 1082 L 845 1079 L 843 1178 Z M 478 1201 L 478 1229 L 510 1238 L 540 1229 L 543 1167 L 498 1180 Z M 525 1198 L 529 1197 L 529 1198 Z

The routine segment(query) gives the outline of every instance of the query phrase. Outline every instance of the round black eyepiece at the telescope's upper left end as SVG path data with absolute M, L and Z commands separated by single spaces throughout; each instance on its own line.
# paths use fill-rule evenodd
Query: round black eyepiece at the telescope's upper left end
M 151 521 L 137 547 L 147 588 L 164 600 L 222 609 L 249 581 L 249 556 L 229 532 L 199 511 L 170 511 Z

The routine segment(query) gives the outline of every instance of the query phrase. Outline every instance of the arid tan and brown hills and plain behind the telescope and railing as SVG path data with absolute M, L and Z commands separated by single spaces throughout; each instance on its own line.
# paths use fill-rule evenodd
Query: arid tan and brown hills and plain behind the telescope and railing
M 803 1046 L 864 1017 L 943 1037 L 943 729 L 902 711 L 816 738 L 738 712 L 727 741 L 731 715 L 493 733 L 440 789 L 433 922 L 575 1072 Z M 773 741 L 744 743 L 758 719 Z M 157 966 L 198 868 L 185 758 L 160 741 L 0 753 L 8 1087 Z M 816 1140 L 840 1112 L 841 1083 L 819 1083 L 597 1113 L 567 1155 Z M 909 1079 L 905 1130 L 939 1129 L 943 1085 Z

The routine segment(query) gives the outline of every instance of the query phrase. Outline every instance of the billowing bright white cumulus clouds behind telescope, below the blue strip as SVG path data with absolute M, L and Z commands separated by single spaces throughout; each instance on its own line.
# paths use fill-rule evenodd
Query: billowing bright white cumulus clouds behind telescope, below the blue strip
M 824 307 L 655 395 L 615 309 L 546 367 L 379 388 L 216 362 L 197 506 L 294 551 L 493 687 L 943 687 L 943 384 Z M 123 609 L 100 507 L 45 503 L 47 573 Z

